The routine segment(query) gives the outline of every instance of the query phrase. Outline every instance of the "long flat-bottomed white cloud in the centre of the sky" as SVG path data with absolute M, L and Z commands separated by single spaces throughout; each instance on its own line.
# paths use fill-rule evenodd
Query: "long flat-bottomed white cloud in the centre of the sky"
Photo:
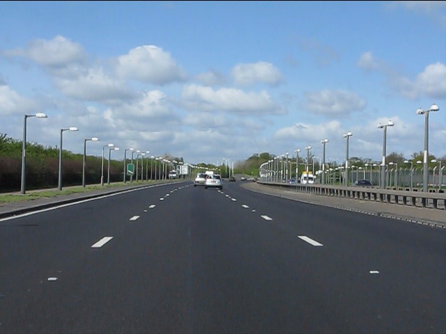
M 266 91 L 245 93 L 234 88 L 213 88 L 189 85 L 183 88 L 182 102 L 187 109 L 229 111 L 238 115 L 279 115 L 285 113 Z

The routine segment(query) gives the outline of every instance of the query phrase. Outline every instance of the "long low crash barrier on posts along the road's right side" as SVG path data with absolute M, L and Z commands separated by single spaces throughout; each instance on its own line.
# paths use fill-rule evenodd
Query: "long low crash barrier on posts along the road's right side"
M 265 182 L 259 184 L 278 186 L 287 191 L 310 193 L 313 195 L 349 198 L 354 200 L 369 200 L 393 205 L 409 205 L 428 209 L 446 210 L 446 193 L 424 192 L 410 190 L 378 189 L 374 187 L 330 186 L 323 184 L 287 184 L 280 182 Z

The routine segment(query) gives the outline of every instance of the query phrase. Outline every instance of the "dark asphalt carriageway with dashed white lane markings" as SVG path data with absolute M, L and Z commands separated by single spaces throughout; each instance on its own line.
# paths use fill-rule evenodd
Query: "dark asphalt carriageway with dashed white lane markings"
M 0 333 L 446 331 L 445 231 L 191 185 L 0 221 Z

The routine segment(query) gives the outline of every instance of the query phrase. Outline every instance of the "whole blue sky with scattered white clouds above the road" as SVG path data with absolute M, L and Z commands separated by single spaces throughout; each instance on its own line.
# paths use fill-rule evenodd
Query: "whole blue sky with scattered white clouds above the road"
M 446 1 L 1 1 L 0 133 L 222 164 L 446 155 Z M 127 152 L 129 154 L 129 152 Z

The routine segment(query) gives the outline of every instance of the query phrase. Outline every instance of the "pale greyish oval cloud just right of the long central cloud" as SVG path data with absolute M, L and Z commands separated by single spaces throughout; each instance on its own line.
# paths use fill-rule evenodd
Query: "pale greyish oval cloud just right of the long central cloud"
M 325 116 L 348 116 L 354 111 L 361 111 L 367 102 L 355 93 L 344 90 L 320 90 L 305 93 L 305 109 Z

